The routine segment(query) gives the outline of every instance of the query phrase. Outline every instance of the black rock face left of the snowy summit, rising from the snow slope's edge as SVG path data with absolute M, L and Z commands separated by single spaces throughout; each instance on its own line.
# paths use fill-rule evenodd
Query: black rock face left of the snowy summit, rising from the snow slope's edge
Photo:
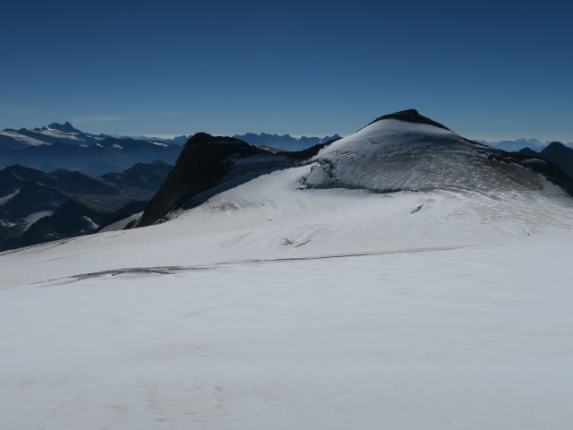
M 233 169 L 232 159 L 266 153 L 239 139 L 196 133 L 185 143 L 175 168 L 150 200 L 139 226 L 157 222 L 193 195 L 220 184 Z

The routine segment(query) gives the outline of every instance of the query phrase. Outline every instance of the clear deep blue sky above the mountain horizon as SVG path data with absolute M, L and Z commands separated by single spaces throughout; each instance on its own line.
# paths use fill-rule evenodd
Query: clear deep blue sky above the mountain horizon
M 0 129 L 348 134 L 406 108 L 573 141 L 573 4 L 6 1 Z

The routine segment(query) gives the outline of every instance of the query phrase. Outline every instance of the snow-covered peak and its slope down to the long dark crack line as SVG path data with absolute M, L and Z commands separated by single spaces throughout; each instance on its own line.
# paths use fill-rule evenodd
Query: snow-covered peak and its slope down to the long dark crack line
M 497 153 L 445 128 L 384 119 L 332 143 L 309 164 L 218 193 L 165 224 L 4 255 L 12 268 L 5 280 L 45 280 L 73 275 L 78 267 L 105 271 L 480 245 L 573 226 L 567 193 L 529 168 L 492 159 Z M 43 268 L 45 254 L 70 264 Z M 13 264 L 24 261 L 43 269 L 22 272 Z

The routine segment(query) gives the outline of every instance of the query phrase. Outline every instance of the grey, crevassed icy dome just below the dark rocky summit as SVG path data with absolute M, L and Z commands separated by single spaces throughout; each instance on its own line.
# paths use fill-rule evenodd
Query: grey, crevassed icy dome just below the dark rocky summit
M 321 173 L 307 184 L 376 191 L 448 189 L 483 193 L 542 190 L 547 181 L 517 164 L 495 162 L 499 151 L 433 125 L 384 119 L 334 142 L 314 158 Z M 318 182 L 315 182 L 318 180 Z

